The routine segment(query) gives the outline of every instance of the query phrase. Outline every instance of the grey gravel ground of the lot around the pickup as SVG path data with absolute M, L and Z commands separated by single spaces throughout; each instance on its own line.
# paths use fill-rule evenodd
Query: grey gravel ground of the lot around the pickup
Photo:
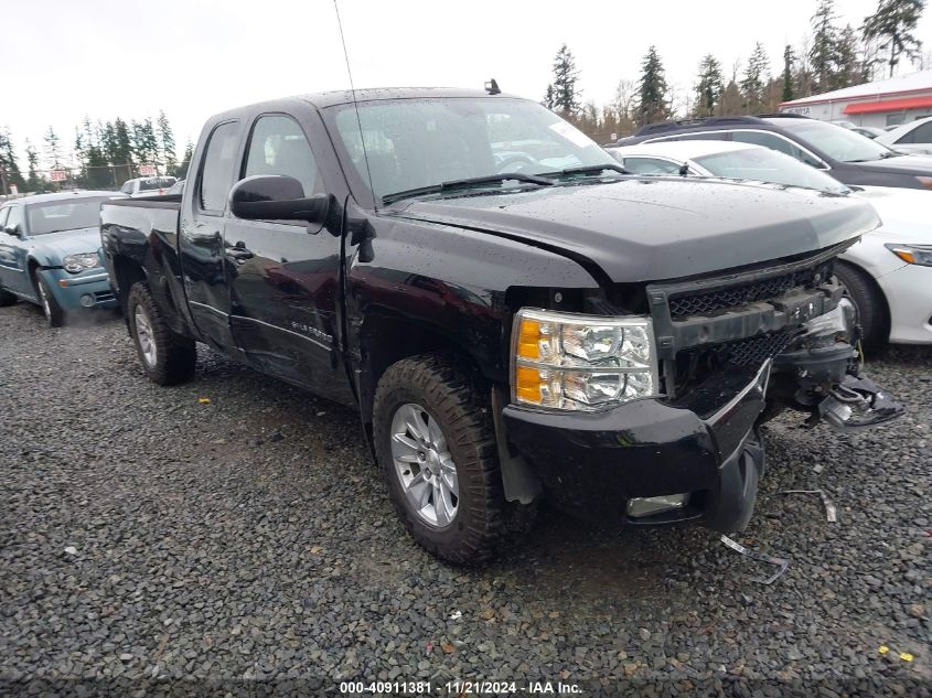
M 160 388 L 113 315 L 49 330 L 2 309 L 0 692 L 929 695 L 932 350 L 869 371 L 908 405 L 894 426 L 765 430 L 740 540 L 790 558 L 771 586 L 709 531 L 548 509 L 463 571 L 406 536 L 351 411 L 205 350 L 194 383 Z M 815 486 L 838 523 L 780 494 Z

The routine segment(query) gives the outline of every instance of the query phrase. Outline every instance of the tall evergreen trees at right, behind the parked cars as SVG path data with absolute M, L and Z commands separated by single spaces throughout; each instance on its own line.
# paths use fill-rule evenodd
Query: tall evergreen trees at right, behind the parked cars
M 917 61 L 922 42 L 915 28 L 925 3 L 879 0 L 877 11 L 854 28 L 839 25 L 835 0 L 816 0 L 811 33 L 802 45 L 784 47 L 779 73 L 771 71 L 770 57 L 758 42 L 743 66 L 735 63 L 730 73 L 715 54 L 703 56 L 693 88 L 685 93 L 671 87 L 663 60 L 651 46 L 641 62 L 641 77 L 619 80 L 614 99 L 601 107 L 582 101 L 579 69 L 564 44 L 554 58 L 554 77 L 543 104 L 597 140 L 631 133 L 674 114 L 700 118 L 775 111 L 782 101 L 892 76 L 903 57 Z

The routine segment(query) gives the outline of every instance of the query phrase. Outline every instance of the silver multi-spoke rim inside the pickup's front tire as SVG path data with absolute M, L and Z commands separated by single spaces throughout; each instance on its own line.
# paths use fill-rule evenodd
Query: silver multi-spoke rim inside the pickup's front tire
M 408 402 L 392 419 L 392 459 L 411 509 L 429 526 L 447 528 L 460 502 L 457 466 L 440 425 Z

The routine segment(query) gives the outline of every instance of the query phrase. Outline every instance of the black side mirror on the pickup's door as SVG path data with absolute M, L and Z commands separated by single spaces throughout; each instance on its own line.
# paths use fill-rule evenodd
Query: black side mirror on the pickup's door
M 257 174 L 239 180 L 229 192 L 229 211 L 247 221 L 323 223 L 330 208 L 326 194 L 304 196 L 304 187 L 286 174 Z

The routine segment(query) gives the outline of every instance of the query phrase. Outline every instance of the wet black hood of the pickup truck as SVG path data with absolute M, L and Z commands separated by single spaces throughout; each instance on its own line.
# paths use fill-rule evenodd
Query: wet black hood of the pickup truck
M 614 282 L 658 281 L 815 251 L 877 227 L 851 196 L 682 178 L 414 200 L 397 215 L 518 237 L 598 265 Z

